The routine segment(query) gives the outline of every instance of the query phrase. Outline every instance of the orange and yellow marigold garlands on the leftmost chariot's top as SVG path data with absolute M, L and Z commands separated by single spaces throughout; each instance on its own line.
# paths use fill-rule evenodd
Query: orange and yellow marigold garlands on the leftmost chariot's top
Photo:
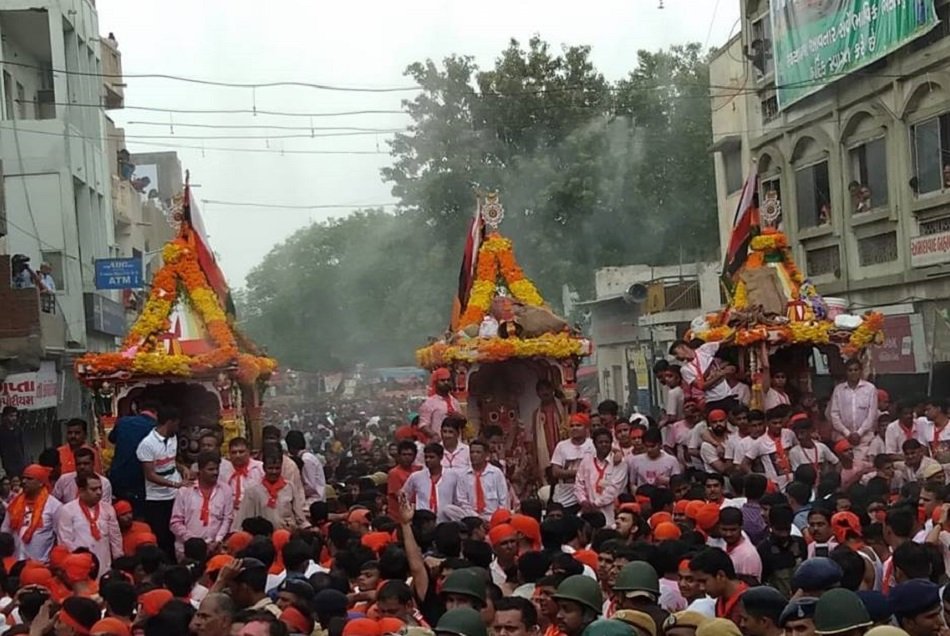
M 215 369 L 237 367 L 239 382 L 252 384 L 277 367 L 271 358 L 241 353 L 232 326 L 215 292 L 198 264 L 189 231 L 162 249 L 165 266 L 152 279 L 152 290 L 142 313 L 129 329 L 119 353 L 89 353 L 76 361 L 80 375 L 111 375 L 121 371 L 141 375 L 192 376 Z M 179 300 L 188 300 L 201 318 L 211 342 L 211 351 L 197 356 L 168 354 L 159 337 L 168 331 L 169 315 Z

